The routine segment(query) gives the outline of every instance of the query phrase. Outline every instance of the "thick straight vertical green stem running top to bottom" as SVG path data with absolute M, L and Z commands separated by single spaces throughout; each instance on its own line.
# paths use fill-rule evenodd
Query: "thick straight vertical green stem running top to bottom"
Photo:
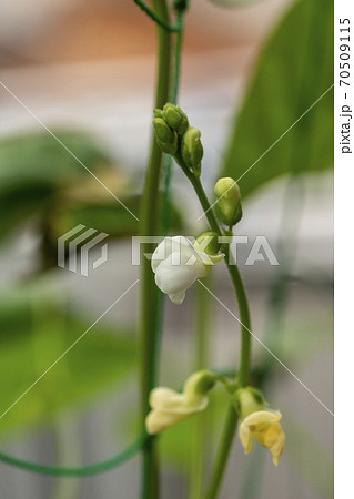
M 154 11 L 169 22 L 166 0 L 152 0 Z M 170 32 L 161 27 L 158 30 L 159 67 L 155 93 L 155 108 L 162 108 L 169 99 L 170 88 Z M 141 205 L 141 235 L 154 236 L 159 234 L 159 184 L 161 174 L 162 153 L 152 134 L 151 154 L 145 176 L 145 185 Z M 141 245 L 143 253 L 152 253 L 153 244 Z M 149 411 L 149 393 L 155 385 L 156 357 L 159 345 L 158 328 L 158 289 L 154 285 L 150 261 L 142 255 L 141 265 L 141 396 L 142 424 Z M 143 499 L 158 499 L 158 460 L 155 439 L 148 439 L 143 448 Z

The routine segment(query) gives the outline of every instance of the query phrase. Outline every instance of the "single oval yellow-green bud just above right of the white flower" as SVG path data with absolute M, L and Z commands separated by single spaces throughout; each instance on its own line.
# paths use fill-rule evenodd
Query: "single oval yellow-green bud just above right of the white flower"
M 219 197 L 215 211 L 218 218 L 225 225 L 235 225 L 242 218 L 241 193 L 231 177 L 220 179 L 214 187 Z

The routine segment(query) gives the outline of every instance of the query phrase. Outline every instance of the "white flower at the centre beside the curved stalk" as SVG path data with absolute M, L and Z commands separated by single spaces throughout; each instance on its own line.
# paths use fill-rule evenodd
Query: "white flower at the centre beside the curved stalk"
M 209 255 L 196 251 L 186 237 L 165 237 L 152 255 L 151 267 L 158 287 L 180 305 L 186 289 L 198 278 L 205 277 L 211 266 L 223 257 L 223 254 Z

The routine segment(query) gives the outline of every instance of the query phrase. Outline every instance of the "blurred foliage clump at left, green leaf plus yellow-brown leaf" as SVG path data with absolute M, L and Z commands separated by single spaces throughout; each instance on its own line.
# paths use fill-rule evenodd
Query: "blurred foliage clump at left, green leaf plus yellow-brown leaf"
M 61 143 L 48 133 L 0 142 L 0 242 L 34 217 L 42 235 L 42 269 L 55 266 L 58 237 L 79 224 L 113 238 L 139 232 L 139 222 L 131 213 L 139 217 L 140 195 L 132 192 L 128 174 L 112 164 L 92 138 L 71 131 L 55 135 Z M 179 231 L 181 216 L 175 207 L 171 211 L 172 228 Z

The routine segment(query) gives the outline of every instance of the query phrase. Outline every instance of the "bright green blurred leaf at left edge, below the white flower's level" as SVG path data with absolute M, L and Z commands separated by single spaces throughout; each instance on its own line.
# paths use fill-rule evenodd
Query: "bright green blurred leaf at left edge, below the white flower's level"
M 29 286 L 0 301 L 0 415 L 33 384 L 93 320 L 74 315 Z M 50 419 L 136 368 L 131 327 L 94 325 L 1 419 L 0 432 Z

